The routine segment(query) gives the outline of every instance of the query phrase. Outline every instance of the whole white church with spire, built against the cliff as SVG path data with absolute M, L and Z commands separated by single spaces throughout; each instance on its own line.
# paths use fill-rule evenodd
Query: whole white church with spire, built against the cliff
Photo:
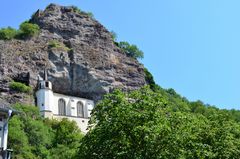
M 74 96 L 54 93 L 52 83 L 48 81 L 47 72 L 44 79 L 39 79 L 36 103 L 45 118 L 76 121 L 83 133 L 87 133 L 88 121 L 94 107 L 94 101 Z

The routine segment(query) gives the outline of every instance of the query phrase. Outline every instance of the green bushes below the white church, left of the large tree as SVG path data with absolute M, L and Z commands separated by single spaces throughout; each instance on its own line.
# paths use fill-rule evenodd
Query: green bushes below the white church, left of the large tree
M 42 119 L 37 107 L 16 104 L 21 114 L 9 123 L 9 146 L 13 158 L 72 158 L 82 134 L 75 122 Z

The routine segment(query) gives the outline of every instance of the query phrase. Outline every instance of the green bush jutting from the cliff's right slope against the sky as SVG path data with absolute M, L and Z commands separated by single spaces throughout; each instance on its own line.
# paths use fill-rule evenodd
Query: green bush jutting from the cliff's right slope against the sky
M 143 52 L 138 49 L 136 45 L 131 45 L 126 41 L 121 41 L 118 46 L 126 53 L 127 56 L 142 59 L 144 57 Z

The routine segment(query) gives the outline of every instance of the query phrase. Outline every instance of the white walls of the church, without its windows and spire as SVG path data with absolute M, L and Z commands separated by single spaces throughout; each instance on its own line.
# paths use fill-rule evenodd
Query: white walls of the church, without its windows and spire
M 36 92 L 37 105 L 45 117 L 52 117 L 55 119 L 68 118 L 77 123 L 78 127 L 83 133 L 87 132 L 88 121 L 90 113 L 94 107 L 94 102 L 92 100 L 67 96 L 63 94 L 53 93 L 50 89 L 40 89 Z M 58 112 L 58 101 L 63 99 L 66 104 L 66 116 L 60 116 Z M 82 102 L 84 105 L 84 118 L 77 116 L 77 103 Z M 43 106 L 44 105 L 44 106 Z M 49 112 L 51 115 L 49 115 Z

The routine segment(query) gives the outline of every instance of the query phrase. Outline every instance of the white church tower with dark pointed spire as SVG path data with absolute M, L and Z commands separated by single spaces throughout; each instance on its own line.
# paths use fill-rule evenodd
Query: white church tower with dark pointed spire
M 53 91 L 52 91 L 52 83 L 48 81 L 47 77 L 47 70 L 44 70 L 44 78 L 43 80 L 38 80 L 38 90 L 36 92 L 36 103 L 39 107 L 39 110 L 41 114 L 44 117 L 51 118 L 53 115 L 52 112 L 52 106 L 53 101 L 51 100 L 53 98 Z

